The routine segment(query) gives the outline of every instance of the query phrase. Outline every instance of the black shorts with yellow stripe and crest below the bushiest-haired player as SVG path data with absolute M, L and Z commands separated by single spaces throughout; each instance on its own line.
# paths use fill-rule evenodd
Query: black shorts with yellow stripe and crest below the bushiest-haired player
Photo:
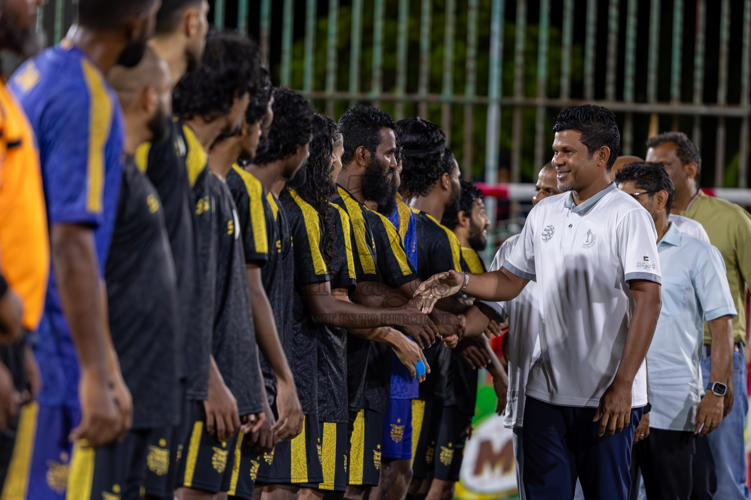
M 218 441 L 206 430 L 206 412 L 202 401 L 194 401 L 190 434 L 182 447 L 177 468 L 177 487 L 219 493 L 230 488 L 237 434 Z

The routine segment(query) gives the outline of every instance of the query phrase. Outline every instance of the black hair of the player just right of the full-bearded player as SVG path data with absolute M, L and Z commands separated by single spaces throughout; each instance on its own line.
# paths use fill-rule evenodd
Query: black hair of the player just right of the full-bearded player
M 405 118 L 397 121 L 402 149 L 402 185 L 410 196 L 427 196 L 445 170 L 446 134 L 432 121 Z

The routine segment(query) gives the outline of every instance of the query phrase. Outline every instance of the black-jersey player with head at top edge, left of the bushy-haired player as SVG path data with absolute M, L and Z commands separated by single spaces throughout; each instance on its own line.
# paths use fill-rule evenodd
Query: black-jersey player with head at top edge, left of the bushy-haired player
M 156 31 L 150 44 L 170 67 L 176 85 L 186 71 L 195 69 L 203 57 L 209 29 L 205 0 L 164 0 L 156 18 Z M 167 235 L 175 263 L 179 295 L 178 345 L 182 349 L 182 405 L 207 397 L 209 375 L 208 342 L 213 323 L 213 307 L 201 300 L 200 286 L 204 279 L 198 273 L 194 232 L 195 200 L 191 180 L 185 166 L 187 148 L 182 138 L 182 124 L 170 120 L 169 134 L 160 142 L 147 142 L 136 153 L 139 169 L 146 172 L 156 188 L 164 210 Z M 196 168 L 204 165 L 192 164 Z M 195 403 L 193 403 L 195 404 Z M 146 460 L 146 498 L 173 499 L 177 461 L 182 456 L 182 442 L 188 429 L 185 419 L 173 427 L 154 430 L 149 436 L 149 457 Z M 166 471 L 166 472 L 165 472 Z

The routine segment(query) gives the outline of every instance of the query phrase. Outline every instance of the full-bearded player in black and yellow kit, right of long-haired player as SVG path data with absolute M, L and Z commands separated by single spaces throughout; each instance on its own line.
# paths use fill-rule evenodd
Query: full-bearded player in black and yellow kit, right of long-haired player
M 334 202 L 347 211 L 355 233 L 353 253 L 358 283 L 354 301 L 372 307 L 399 307 L 419 285 L 415 270 L 391 221 L 364 205 L 366 201 L 373 202 L 386 213 L 394 209 L 397 193 L 394 121 L 385 111 L 357 105 L 342 115 L 339 126 L 344 136 L 343 168 L 337 176 Z M 409 337 L 426 346 L 433 343 L 439 333 L 439 328 L 428 318 L 424 318 L 422 324 L 394 325 L 400 325 Z M 454 327 L 457 325 L 459 322 L 454 322 Z M 452 328 L 452 325 L 445 325 L 445 328 Z M 448 331 L 442 331 L 442 334 L 448 334 Z M 368 359 L 370 356 L 372 364 Z M 348 362 L 351 367 L 348 374 L 351 384 L 349 406 L 357 417 L 354 418 L 351 439 L 351 488 L 347 495 L 355 498 L 379 484 L 391 354 L 380 346 L 351 338 Z M 370 370 L 369 377 L 367 370 Z M 359 453 L 360 450 L 363 454 Z

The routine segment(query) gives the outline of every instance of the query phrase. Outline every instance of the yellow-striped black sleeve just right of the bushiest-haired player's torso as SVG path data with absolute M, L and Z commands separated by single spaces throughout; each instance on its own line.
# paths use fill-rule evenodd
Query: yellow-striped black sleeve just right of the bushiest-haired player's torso
M 227 174 L 227 187 L 237 207 L 240 234 L 243 235 L 245 262 L 264 265 L 269 259 L 267 201 L 261 181 L 239 166 Z

